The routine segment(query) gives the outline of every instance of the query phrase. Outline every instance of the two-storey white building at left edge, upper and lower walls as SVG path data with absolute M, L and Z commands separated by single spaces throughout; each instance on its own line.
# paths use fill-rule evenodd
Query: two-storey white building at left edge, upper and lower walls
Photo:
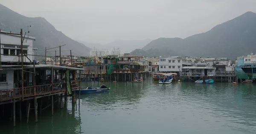
M 23 53 L 29 54 L 27 56 L 23 56 L 23 62 L 32 62 L 33 56 L 33 41 L 35 41 L 34 37 L 31 36 L 24 36 L 23 41 Z M 1 48 L 1 62 L 2 67 L 6 68 L 7 70 L 0 70 L 0 90 L 2 89 L 12 89 L 17 87 L 15 84 L 15 79 L 21 77 L 21 73 L 18 73 L 18 70 L 8 70 L 12 65 L 5 65 L 6 62 L 20 62 L 21 61 L 21 49 L 20 49 L 20 35 L 10 34 L 8 32 L 0 32 L 0 46 Z M 30 60 L 31 61 L 30 61 Z M 32 70 L 29 70 L 32 72 Z M 32 81 L 32 73 L 29 73 L 29 80 Z M 24 76 L 24 80 L 26 76 Z

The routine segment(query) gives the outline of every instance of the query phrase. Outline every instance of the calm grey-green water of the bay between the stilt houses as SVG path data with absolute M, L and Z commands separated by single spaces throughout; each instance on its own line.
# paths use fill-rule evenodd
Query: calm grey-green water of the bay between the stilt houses
M 104 83 L 83 83 L 99 86 Z M 1 125 L 1 134 L 250 134 L 256 132 L 256 85 L 105 83 L 80 105 L 44 111 L 34 123 Z M 17 119 L 18 120 L 18 119 Z M 23 119 L 24 120 L 24 119 Z

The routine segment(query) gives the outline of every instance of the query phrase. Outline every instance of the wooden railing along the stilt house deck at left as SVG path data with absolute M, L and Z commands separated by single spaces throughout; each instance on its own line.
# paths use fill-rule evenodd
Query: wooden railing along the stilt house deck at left
M 77 81 L 78 81 L 78 84 L 80 85 L 80 81 L 79 80 Z M 4 90 L 0 90 L 0 100 L 22 98 L 22 95 L 23 97 L 32 97 L 37 95 L 51 94 L 55 92 L 65 91 L 66 88 L 67 88 L 67 82 L 23 87 L 23 90 L 22 88 L 4 89 Z

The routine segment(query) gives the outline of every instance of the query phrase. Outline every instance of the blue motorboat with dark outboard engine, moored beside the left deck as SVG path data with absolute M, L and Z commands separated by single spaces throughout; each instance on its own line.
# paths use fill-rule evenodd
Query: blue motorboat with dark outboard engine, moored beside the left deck
M 98 92 L 107 92 L 110 88 L 108 88 L 105 85 L 102 85 L 100 87 L 87 87 L 87 88 L 81 88 L 80 93 L 81 94 L 91 94 L 91 93 L 98 93 Z M 76 89 L 76 94 L 79 94 L 79 89 Z

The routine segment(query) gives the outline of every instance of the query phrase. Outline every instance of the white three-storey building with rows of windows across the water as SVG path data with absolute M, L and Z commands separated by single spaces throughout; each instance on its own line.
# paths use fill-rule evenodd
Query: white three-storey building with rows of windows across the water
M 159 71 L 178 73 L 184 66 L 192 66 L 190 59 L 181 57 L 162 57 L 159 58 Z

